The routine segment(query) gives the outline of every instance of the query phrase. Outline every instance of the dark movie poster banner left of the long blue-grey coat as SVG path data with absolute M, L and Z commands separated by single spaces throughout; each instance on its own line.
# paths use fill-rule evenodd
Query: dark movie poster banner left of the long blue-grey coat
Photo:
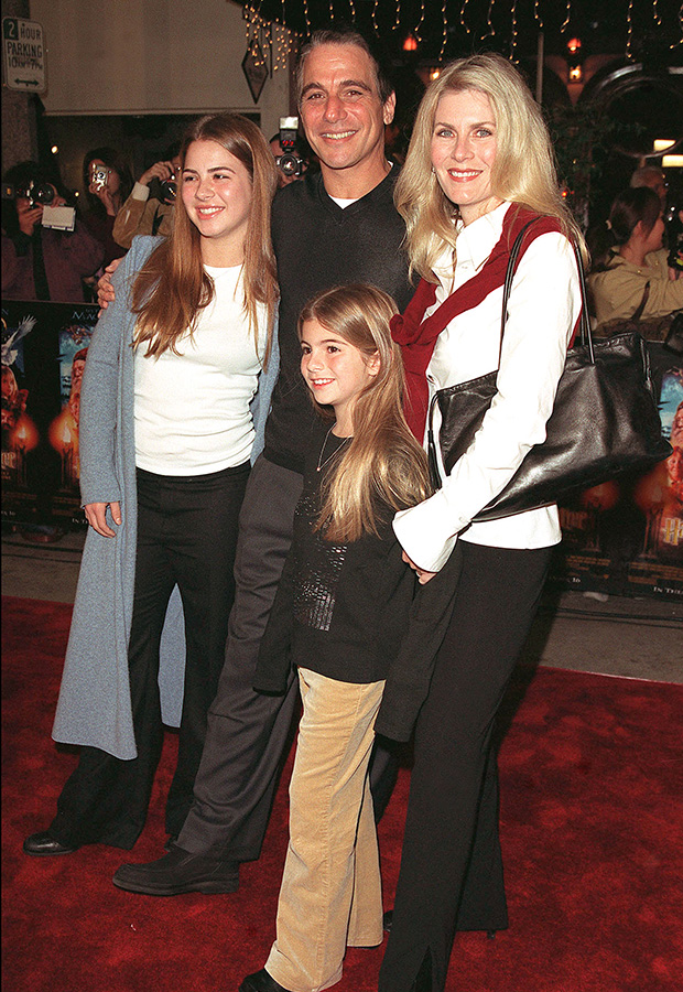
M 2 519 L 83 526 L 80 385 L 97 306 L 2 303 Z

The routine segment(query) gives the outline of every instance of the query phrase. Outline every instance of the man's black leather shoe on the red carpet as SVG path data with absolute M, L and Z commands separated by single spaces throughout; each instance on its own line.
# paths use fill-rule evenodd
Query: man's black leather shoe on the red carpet
M 205 895 L 236 892 L 239 863 L 217 861 L 206 854 L 191 854 L 172 844 L 169 853 L 149 864 L 122 864 L 113 875 L 113 884 L 127 892 L 143 895 Z

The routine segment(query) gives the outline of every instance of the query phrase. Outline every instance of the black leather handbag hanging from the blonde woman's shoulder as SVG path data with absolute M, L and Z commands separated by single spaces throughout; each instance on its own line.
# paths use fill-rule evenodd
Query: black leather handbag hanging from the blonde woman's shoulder
M 533 223 L 522 228 L 510 252 L 502 295 L 501 349 L 517 258 L 527 227 Z M 557 503 L 624 473 L 649 468 L 671 454 L 671 445 L 662 436 L 647 345 L 638 333 L 593 342 L 583 261 L 576 247 L 574 251 L 583 301 L 581 345 L 567 352 L 545 441 L 531 449 L 505 489 L 475 516 L 475 522 Z M 427 452 L 437 488 L 441 478 L 432 425 L 435 405 L 442 420 L 442 460 L 451 472 L 481 425 L 497 391 L 497 376 L 492 371 L 440 389 L 432 398 Z

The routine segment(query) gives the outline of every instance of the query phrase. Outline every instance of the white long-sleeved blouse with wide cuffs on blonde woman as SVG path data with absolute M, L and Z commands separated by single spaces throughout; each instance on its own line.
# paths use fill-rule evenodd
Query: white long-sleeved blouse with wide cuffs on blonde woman
M 448 249 L 437 267 L 436 302 L 426 316 L 485 263 L 500 239 L 509 206 L 505 203 L 460 229 L 455 271 Z M 501 306 L 499 287 L 478 306 L 454 317 L 440 334 L 427 368 L 430 398 L 437 389 L 498 368 Z M 561 234 L 540 235 L 524 252 L 512 282 L 498 392 L 479 431 L 443 487 L 394 519 L 399 541 L 420 568 L 438 571 L 458 538 L 520 549 L 544 548 L 561 540 L 555 505 L 485 524 L 471 524 L 471 519 L 505 488 L 527 452 L 545 439 L 579 312 L 572 246 Z

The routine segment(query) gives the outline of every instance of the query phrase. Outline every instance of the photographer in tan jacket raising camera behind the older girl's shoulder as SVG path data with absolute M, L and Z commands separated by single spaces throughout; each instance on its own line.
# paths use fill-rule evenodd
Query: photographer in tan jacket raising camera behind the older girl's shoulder
M 130 248 L 135 235 L 171 234 L 175 212 L 176 179 L 181 168 L 180 142 L 166 150 L 161 162 L 154 162 L 143 172 L 132 193 L 117 214 L 113 239 L 123 248 Z M 160 196 L 152 196 L 150 185 L 160 186 Z

